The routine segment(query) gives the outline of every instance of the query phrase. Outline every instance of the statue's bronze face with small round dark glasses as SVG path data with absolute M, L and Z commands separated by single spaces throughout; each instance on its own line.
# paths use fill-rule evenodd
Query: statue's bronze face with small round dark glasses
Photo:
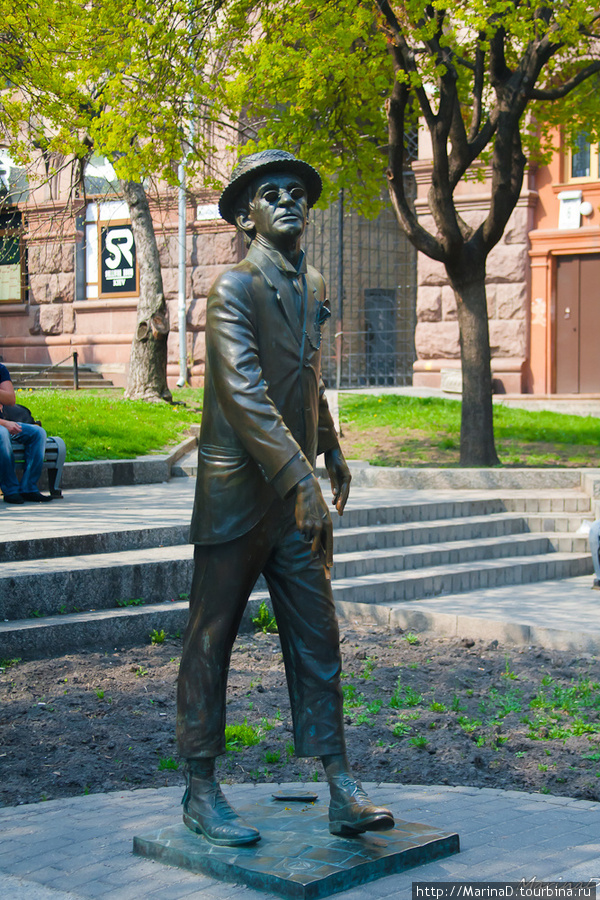
M 293 248 L 304 233 L 308 199 L 304 182 L 285 172 L 259 176 L 247 219 L 278 250 Z

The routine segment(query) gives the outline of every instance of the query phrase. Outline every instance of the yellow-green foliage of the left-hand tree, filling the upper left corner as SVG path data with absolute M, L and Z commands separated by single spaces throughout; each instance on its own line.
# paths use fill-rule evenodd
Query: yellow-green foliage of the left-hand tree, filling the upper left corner
M 206 165 L 219 115 L 207 78 L 218 60 L 206 39 L 217 2 L 5 6 L 0 128 L 21 161 L 39 150 L 85 159 L 93 148 L 119 178 L 170 184 L 184 153 L 190 170 Z M 190 144 L 192 118 L 199 127 Z

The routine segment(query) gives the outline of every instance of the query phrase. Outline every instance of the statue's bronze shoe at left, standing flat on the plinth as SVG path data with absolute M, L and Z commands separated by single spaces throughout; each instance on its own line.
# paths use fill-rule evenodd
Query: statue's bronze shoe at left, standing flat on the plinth
M 184 825 L 211 844 L 241 847 L 260 840 L 260 832 L 231 808 L 215 778 L 190 773 L 182 802 Z

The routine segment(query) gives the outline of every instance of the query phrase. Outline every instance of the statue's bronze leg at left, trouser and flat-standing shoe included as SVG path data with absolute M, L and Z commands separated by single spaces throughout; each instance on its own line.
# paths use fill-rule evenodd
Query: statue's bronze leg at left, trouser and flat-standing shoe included
M 260 834 L 227 803 L 215 777 L 225 752 L 225 699 L 231 650 L 264 560 L 261 526 L 225 544 L 197 546 L 177 685 L 177 740 L 187 760 L 184 824 L 214 844 L 253 844 Z

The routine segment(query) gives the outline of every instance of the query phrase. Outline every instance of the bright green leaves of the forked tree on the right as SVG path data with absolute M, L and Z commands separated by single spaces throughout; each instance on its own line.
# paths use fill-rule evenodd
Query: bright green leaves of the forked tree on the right
M 575 102 L 548 114 L 534 87 L 564 83 L 594 56 L 594 15 L 589 0 L 230 0 L 215 37 L 227 58 L 218 91 L 233 113 L 243 111 L 244 152 L 276 145 L 300 153 L 325 176 L 323 204 L 344 188 L 368 214 L 385 181 L 397 82 L 409 95 L 405 131 L 419 111 L 435 129 L 448 120 L 458 178 L 478 159 L 492 164 L 506 114 L 526 153 L 541 160 L 552 128 L 575 128 L 584 115 Z M 586 85 L 577 94 L 585 116 L 600 121 L 598 92 Z M 450 125 L 456 103 L 460 116 Z M 525 119 L 528 106 L 534 115 Z

